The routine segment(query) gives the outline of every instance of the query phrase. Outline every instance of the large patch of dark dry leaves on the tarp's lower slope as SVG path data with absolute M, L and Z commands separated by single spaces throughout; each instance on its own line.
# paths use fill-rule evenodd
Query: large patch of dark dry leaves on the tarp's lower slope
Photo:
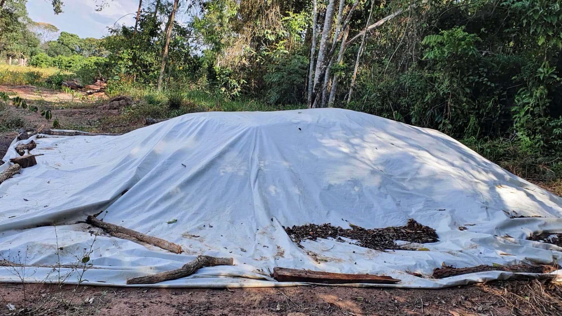
M 351 225 L 351 224 L 350 224 Z M 285 232 L 297 245 L 302 240 L 316 240 L 316 238 L 332 237 L 343 242 L 341 237 L 357 241 L 356 245 L 374 250 L 401 250 L 405 247 L 396 244 L 397 240 L 416 243 L 437 242 L 435 229 L 419 224 L 414 219 L 408 220 L 405 226 L 365 229 L 351 225 L 351 229 L 327 224 L 306 224 L 301 226 L 284 227 Z

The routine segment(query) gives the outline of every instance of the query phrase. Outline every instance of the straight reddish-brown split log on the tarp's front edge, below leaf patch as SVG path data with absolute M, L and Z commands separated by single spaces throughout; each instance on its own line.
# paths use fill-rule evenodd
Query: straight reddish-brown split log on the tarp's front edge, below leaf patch
M 401 280 L 373 274 L 347 274 L 288 268 L 273 268 L 273 278 L 279 282 L 311 282 L 325 284 L 372 283 L 391 284 Z

